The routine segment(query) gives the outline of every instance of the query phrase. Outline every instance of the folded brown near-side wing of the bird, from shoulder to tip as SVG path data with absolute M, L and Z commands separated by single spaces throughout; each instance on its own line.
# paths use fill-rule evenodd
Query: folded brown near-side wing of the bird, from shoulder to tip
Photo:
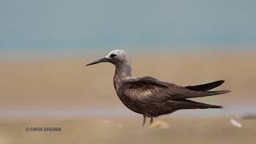
M 168 82 L 161 82 L 155 78 L 127 78 L 120 87 L 122 93 L 136 102 L 162 102 L 168 99 L 197 98 L 216 94 L 225 94 L 228 91 L 195 91 L 183 86 Z

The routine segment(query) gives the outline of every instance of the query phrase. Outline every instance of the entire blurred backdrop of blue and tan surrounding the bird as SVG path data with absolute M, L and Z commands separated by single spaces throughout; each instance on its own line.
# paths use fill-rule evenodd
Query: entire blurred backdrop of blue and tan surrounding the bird
M 255 6 L 253 0 L 0 0 L 0 142 L 254 143 L 256 121 L 248 118 L 256 114 Z M 180 86 L 226 80 L 218 90 L 230 94 L 194 99 L 224 109 L 180 110 L 142 129 L 142 116 L 115 94 L 114 66 L 84 67 L 116 49 L 129 54 L 134 77 Z M 27 132 L 31 126 L 62 131 Z

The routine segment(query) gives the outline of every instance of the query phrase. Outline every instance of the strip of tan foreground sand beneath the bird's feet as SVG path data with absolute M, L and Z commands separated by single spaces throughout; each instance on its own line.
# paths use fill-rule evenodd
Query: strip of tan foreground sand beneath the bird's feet
M 23 120 L 0 122 L 0 142 L 9 143 L 255 143 L 256 120 L 229 118 L 159 118 L 162 128 L 141 127 L 141 118 Z M 146 123 L 147 125 L 148 123 Z M 26 131 L 26 127 L 60 127 L 60 131 Z

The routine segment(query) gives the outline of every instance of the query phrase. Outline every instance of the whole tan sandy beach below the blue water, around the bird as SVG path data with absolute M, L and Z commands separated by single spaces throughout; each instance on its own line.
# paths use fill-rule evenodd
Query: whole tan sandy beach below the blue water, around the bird
M 231 90 L 194 98 L 222 105 L 223 110 L 178 111 L 155 118 L 160 127 L 154 129 L 142 128 L 141 115 L 119 101 L 112 83 L 114 66 L 84 66 L 100 57 L 2 59 L 0 142 L 255 142 L 256 121 L 241 117 L 255 110 L 255 54 L 130 54 L 135 77 L 152 76 L 181 86 L 224 79 L 218 90 Z M 241 122 L 242 128 L 230 124 L 230 118 Z M 62 130 L 26 131 L 27 127 Z

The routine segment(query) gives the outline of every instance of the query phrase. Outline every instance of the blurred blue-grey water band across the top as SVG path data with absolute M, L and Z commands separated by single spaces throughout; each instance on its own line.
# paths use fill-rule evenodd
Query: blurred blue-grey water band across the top
M 197 45 L 245 50 L 256 44 L 255 5 L 254 0 L 0 1 L 0 53 Z

